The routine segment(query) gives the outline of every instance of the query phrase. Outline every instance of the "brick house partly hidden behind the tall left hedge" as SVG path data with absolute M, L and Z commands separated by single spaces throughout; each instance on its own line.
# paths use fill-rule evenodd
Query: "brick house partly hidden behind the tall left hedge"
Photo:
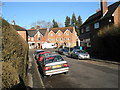
M 25 28 L 20 27 L 18 25 L 15 25 L 15 21 L 14 20 L 12 21 L 12 26 L 14 27 L 15 30 L 17 30 L 18 34 L 20 36 L 22 36 L 22 38 L 25 41 L 28 41 L 28 33 L 27 33 L 27 30 Z

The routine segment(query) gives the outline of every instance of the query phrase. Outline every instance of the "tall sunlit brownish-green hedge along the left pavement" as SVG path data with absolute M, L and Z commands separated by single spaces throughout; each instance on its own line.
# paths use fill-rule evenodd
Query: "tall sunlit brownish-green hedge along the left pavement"
M 26 80 L 28 44 L 6 20 L 2 20 L 2 87 L 11 88 Z M 14 77 L 14 78 L 13 78 Z

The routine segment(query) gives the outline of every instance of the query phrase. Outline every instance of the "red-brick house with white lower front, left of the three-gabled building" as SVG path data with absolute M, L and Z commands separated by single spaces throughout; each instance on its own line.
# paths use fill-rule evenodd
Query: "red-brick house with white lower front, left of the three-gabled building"
M 42 43 L 46 42 L 47 40 L 48 29 L 28 29 L 27 32 L 29 48 L 42 48 Z

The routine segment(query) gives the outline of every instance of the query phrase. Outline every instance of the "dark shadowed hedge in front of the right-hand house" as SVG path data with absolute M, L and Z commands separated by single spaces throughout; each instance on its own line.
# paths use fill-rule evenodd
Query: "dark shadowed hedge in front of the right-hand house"
M 105 27 L 98 32 L 97 50 L 106 59 L 120 60 L 120 27 Z

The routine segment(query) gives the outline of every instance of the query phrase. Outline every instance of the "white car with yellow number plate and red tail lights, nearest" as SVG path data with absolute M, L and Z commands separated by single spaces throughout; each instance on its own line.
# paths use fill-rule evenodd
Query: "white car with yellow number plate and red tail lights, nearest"
M 59 73 L 66 74 L 69 71 L 69 66 L 60 55 L 50 55 L 42 60 L 41 69 L 44 76 L 51 76 Z

